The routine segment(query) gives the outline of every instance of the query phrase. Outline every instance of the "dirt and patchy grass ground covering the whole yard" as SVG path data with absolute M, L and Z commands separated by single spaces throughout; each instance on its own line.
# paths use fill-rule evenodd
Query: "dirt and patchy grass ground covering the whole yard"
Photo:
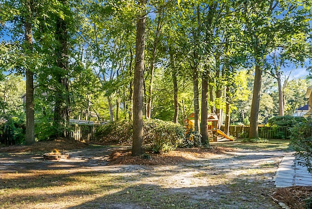
M 55 148 L 70 158 L 44 160 Z M 68 140 L 2 147 L 0 208 L 304 208 L 311 187 L 274 188 L 287 151 L 239 142 L 140 157 L 126 145 Z

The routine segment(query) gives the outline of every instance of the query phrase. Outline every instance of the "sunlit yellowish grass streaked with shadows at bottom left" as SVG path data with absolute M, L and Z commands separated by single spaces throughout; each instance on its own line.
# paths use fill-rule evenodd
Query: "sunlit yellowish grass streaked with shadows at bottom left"
M 44 178 L 37 179 L 45 185 Z M 75 206 L 93 201 L 98 197 L 112 195 L 128 187 L 121 182 L 122 177 L 110 174 L 74 175 L 66 179 L 50 182 L 50 185 L 32 187 L 32 182 L 6 185 L 0 189 L 0 208 L 49 208 L 56 204 Z M 44 205 L 42 205 L 44 203 Z

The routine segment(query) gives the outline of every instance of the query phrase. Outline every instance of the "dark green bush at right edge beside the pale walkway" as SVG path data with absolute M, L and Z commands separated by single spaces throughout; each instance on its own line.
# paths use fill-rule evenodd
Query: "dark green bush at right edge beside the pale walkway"
M 291 128 L 291 146 L 296 151 L 297 163 L 312 173 L 312 121 L 300 122 Z

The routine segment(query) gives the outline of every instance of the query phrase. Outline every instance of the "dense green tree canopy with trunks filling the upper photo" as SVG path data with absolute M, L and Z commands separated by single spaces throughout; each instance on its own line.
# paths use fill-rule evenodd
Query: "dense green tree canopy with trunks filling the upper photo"
M 66 135 L 69 119 L 139 115 L 141 128 L 143 118 L 183 124 L 192 112 L 203 142 L 207 113 L 250 124 L 257 138 L 258 123 L 306 103 L 310 80 L 291 76 L 311 61 L 311 1 L 25 2 L 0 2 L 0 102 L 2 115 L 40 123 L 40 139 Z M 26 113 L 8 79 L 28 86 L 15 96 L 33 95 Z

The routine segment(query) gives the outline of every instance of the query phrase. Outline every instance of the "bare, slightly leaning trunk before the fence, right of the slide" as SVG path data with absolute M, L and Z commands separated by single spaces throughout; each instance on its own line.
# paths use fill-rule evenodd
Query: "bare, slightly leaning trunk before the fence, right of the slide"
M 249 128 L 249 138 L 258 139 L 258 112 L 260 104 L 260 93 L 261 93 L 261 83 L 262 83 L 262 70 L 256 62 L 255 74 L 254 74 L 254 91 L 253 91 L 253 101 L 250 113 L 250 128 Z

